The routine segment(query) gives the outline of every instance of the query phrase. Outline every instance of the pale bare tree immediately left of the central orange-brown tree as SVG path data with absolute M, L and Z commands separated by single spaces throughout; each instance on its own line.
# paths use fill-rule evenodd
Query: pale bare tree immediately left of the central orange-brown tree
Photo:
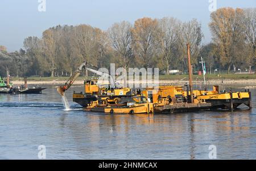
M 108 34 L 113 48 L 121 57 L 121 65 L 125 69 L 129 66 L 133 53 L 131 50 L 131 28 L 129 22 L 114 23 L 108 29 Z

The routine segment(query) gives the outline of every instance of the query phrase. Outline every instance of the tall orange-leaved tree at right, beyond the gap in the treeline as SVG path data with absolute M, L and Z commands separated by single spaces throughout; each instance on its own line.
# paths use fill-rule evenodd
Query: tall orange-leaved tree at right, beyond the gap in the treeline
M 220 8 L 210 15 L 209 23 L 212 31 L 213 41 L 218 45 L 222 64 L 230 67 L 236 63 L 237 49 L 243 41 L 243 33 L 240 20 L 243 10 L 237 8 Z

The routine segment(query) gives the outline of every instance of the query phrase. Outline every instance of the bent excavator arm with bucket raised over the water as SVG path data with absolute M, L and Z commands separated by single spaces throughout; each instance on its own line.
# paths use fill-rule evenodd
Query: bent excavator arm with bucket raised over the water
M 60 86 L 57 88 L 57 92 L 59 92 L 59 94 L 61 96 L 64 96 L 64 92 L 67 91 L 72 86 L 72 84 L 75 82 L 77 77 L 79 77 L 82 70 L 84 70 L 84 69 L 91 71 L 97 75 L 104 76 L 105 78 L 108 78 L 108 79 L 112 78 L 112 75 L 102 72 L 102 71 L 98 71 L 97 69 L 94 69 L 94 67 L 92 65 L 89 65 L 89 63 L 87 63 L 85 61 L 77 68 L 77 70 L 75 72 L 73 72 L 73 74 L 68 79 L 68 81 L 64 84 L 64 86 Z M 114 79 L 112 79 L 112 80 L 114 80 Z

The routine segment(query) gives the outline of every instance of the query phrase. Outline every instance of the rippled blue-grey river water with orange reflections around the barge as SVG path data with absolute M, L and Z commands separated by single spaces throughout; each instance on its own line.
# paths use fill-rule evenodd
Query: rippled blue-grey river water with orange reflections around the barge
M 256 91 L 253 109 L 175 114 L 84 112 L 55 87 L 42 95 L 0 95 L 0 159 L 256 159 Z M 238 86 L 241 87 L 241 86 Z

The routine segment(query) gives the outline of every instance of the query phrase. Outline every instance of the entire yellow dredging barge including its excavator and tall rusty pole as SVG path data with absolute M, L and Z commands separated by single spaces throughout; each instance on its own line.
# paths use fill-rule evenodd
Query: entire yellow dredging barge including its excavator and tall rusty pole
M 98 84 L 97 79 L 91 79 L 85 80 L 84 93 L 73 92 L 73 101 L 80 104 L 84 111 L 110 114 L 170 114 L 201 110 L 235 110 L 242 104 L 251 109 L 251 92 L 249 89 L 240 92 L 233 92 L 232 88 L 227 91 L 222 86 L 213 86 L 211 90 L 207 90 L 206 87 L 203 90 L 193 89 L 189 49 L 189 44 L 187 44 L 189 84 L 184 85 L 184 87 L 112 88 L 109 84 L 101 85 Z M 64 86 L 57 88 L 57 92 L 64 96 L 64 92 L 72 86 L 84 69 L 106 78 L 111 76 L 98 71 L 85 61 L 72 74 Z

